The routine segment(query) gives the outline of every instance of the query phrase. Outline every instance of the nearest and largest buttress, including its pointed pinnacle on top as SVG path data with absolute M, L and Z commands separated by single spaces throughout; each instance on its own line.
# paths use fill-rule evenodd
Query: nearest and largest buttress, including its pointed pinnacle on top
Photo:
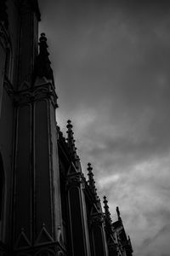
M 59 250 L 65 252 L 55 119 L 57 95 L 46 41 L 42 34 L 36 70 L 38 73 L 43 67 L 42 73 L 38 73 L 31 88 L 14 94 L 13 247 L 16 255 L 26 251 L 37 255 L 50 250 L 54 255 Z M 50 73 L 48 78 L 46 71 Z

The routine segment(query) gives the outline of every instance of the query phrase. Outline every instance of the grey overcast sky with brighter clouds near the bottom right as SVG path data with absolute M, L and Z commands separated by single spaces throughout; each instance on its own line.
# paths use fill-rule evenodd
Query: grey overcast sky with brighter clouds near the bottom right
M 116 220 L 120 207 L 135 256 L 170 251 L 170 4 L 41 0 L 59 96 L 86 173 Z

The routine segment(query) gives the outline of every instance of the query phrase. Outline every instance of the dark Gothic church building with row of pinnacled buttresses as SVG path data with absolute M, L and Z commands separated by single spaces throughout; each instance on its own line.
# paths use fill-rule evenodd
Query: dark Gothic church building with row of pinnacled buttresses
M 0 255 L 130 256 L 93 168 L 83 175 L 68 120 L 56 125 L 53 70 L 37 0 L 0 2 Z M 38 46 L 39 45 L 39 46 Z M 38 50 L 39 47 L 39 50 Z

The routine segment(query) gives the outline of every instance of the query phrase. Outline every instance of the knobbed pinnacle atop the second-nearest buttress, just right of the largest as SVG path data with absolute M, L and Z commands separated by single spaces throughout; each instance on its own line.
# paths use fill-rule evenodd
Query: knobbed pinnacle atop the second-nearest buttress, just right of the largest
M 71 120 L 68 120 L 67 121 L 67 143 L 68 143 L 68 146 L 70 148 L 70 152 L 71 152 L 71 157 L 74 159 L 74 160 L 79 160 L 79 157 L 77 155 L 77 148 L 75 146 L 75 139 L 74 139 L 74 132 L 72 131 L 72 125 L 71 125 Z

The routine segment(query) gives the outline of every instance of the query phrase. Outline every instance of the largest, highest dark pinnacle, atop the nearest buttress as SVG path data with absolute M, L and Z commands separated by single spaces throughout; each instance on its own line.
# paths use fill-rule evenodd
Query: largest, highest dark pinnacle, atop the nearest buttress
M 36 65 L 35 65 L 35 76 L 52 80 L 54 85 L 54 75 L 53 70 L 50 66 L 51 61 L 48 58 L 48 44 L 45 33 L 41 33 L 41 37 L 39 39 L 39 55 L 37 55 Z

